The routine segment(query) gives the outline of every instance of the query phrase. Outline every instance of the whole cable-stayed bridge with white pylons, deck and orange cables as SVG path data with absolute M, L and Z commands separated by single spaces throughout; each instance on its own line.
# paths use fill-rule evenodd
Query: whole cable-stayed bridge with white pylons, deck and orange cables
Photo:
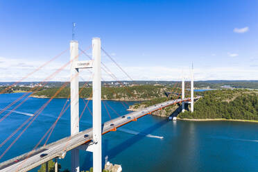
M 200 96 L 193 97 L 193 70 L 191 72 L 191 97 L 184 98 L 184 77 L 182 79 L 182 88 L 181 93 L 176 93 L 178 95 L 178 98 L 174 100 L 167 100 L 162 103 L 158 103 L 155 105 L 151 105 L 149 107 L 144 108 L 143 110 L 137 111 L 137 112 L 130 112 L 128 114 L 125 114 L 121 117 L 117 117 L 115 119 L 111 119 L 110 121 L 106 121 L 105 123 L 102 123 L 101 121 L 101 80 L 103 78 L 101 77 L 101 69 L 105 71 L 107 74 L 109 74 L 114 80 L 118 80 L 118 78 L 110 71 L 110 69 L 107 68 L 101 62 L 101 51 L 109 57 L 112 62 L 114 62 L 119 69 L 126 74 L 128 78 L 132 80 L 132 78 L 126 73 L 126 71 L 123 70 L 122 67 L 120 67 L 117 62 L 114 61 L 114 59 L 101 47 L 101 40 L 98 37 L 95 37 L 92 39 L 92 57 L 90 55 L 87 55 L 84 50 L 81 50 L 80 54 L 85 54 L 89 60 L 85 61 L 79 61 L 78 56 L 80 55 L 78 53 L 78 42 L 75 40 L 72 40 L 70 42 L 70 60 L 65 65 L 57 69 L 53 74 L 48 76 L 45 80 L 42 81 L 42 86 L 46 85 L 48 83 L 48 80 L 53 78 L 56 74 L 58 74 L 62 69 L 65 69 L 68 65 L 71 65 L 71 77 L 69 82 L 66 82 L 65 84 L 58 89 L 57 92 L 51 98 L 49 98 L 49 101 L 44 103 L 42 107 L 40 107 L 39 110 L 37 110 L 30 118 L 28 118 L 24 123 L 22 123 L 17 130 L 12 132 L 12 134 L 7 137 L 3 142 L 0 144 L 0 148 L 6 144 L 8 140 L 11 138 L 14 138 L 17 132 L 19 132 L 19 135 L 12 141 L 12 143 L 0 154 L 0 160 L 1 158 L 10 150 L 13 144 L 19 139 L 19 137 L 22 137 L 22 134 L 28 129 L 29 126 L 31 126 L 31 123 L 35 121 L 35 119 L 40 115 L 40 113 L 44 110 L 44 108 L 55 98 L 58 93 L 61 92 L 62 89 L 67 87 L 67 85 L 70 83 L 70 103 L 67 103 L 66 101 L 65 105 L 62 107 L 62 111 L 58 115 L 57 119 L 53 123 L 53 125 L 49 128 L 49 130 L 46 131 L 42 139 L 38 141 L 37 145 L 34 146 L 33 150 L 31 150 L 28 153 L 24 153 L 23 155 L 18 155 L 17 157 L 13 157 L 10 160 L 6 160 L 5 162 L 1 162 L 0 164 L 0 171 L 29 171 L 31 169 L 34 169 L 37 166 L 40 166 L 41 164 L 49 162 L 49 160 L 55 159 L 55 171 L 58 171 L 58 162 L 57 158 L 65 158 L 65 155 L 68 151 L 71 151 L 71 171 L 72 172 L 79 172 L 80 171 L 80 164 L 79 164 L 79 151 L 89 151 L 93 153 L 93 169 L 94 172 L 101 172 L 102 171 L 102 150 L 101 150 L 101 136 L 105 135 L 107 132 L 114 132 L 117 130 L 117 128 L 126 125 L 127 123 L 130 123 L 132 121 L 137 121 L 137 119 L 144 117 L 147 114 L 151 114 L 152 112 L 155 112 L 157 110 L 162 110 L 164 107 L 168 107 L 170 105 L 175 105 L 178 103 L 182 103 L 182 112 L 184 112 L 184 103 L 190 103 L 191 104 L 191 112 L 193 112 L 193 103 L 196 101 Z M 67 49 L 68 50 L 68 49 Z M 67 51 L 66 50 L 66 51 Z M 48 62 L 44 63 L 44 65 L 38 67 L 34 71 L 32 71 L 27 76 L 24 76 L 21 80 L 18 80 L 13 85 L 10 85 L 5 90 L 0 92 L 0 94 L 3 94 L 8 89 L 11 89 L 14 85 L 17 83 L 22 82 L 22 80 L 25 80 L 28 78 L 28 76 L 31 76 L 36 71 L 42 69 L 42 67 L 48 65 L 50 62 L 58 58 L 60 55 L 65 53 L 63 51 L 59 55 L 55 56 Z M 92 128 L 89 128 L 87 130 L 80 131 L 79 130 L 79 123 L 80 118 L 83 115 L 83 112 L 85 112 L 87 104 L 89 103 L 89 100 L 87 103 L 85 102 L 85 107 L 83 109 L 83 112 L 79 114 L 79 95 L 83 87 L 79 90 L 79 70 L 80 69 L 88 69 L 92 73 Z M 41 86 L 41 87 L 42 87 Z M 37 92 L 40 89 L 40 87 L 31 88 L 31 92 Z M 175 92 L 169 92 L 169 94 L 175 94 Z M 131 94 L 131 93 L 130 93 Z M 16 103 L 19 103 L 19 101 L 22 101 L 18 105 L 16 105 L 12 110 L 10 110 L 7 114 L 5 114 L 3 117 L 1 117 L 0 122 L 6 119 L 12 112 L 14 112 L 20 105 L 22 105 L 27 98 L 24 98 L 27 95 L 24 94 L 23 96 L 19 97 L 17 100 L 10 103 L 10 105 L 3 108 L 3 110 L 0 111 L 0 114 L 8 110 L 10 107 L 14 106 Z M 180 97 L 181 96 L 181 97 Z M 24 99 L 22 99 L 24 98 Z M 67 98 L 67 100 L 69 99 Z M 83 99 L 83 101 L 85 101 Z M 103 102 L 104 103 L 104 102 Z M 105 103 L 104 103 L 105 105 Z M 71 109 L 71 135 L 69 137 L 65 137 L 63 139 L 60 139 L 58 141 L 55 141 L 51 144 L 47 144 L 47 141 L 49 140 L 49 137 L 51 136 L 51 133 L 53 132 L 56 123 L 58 123 L 59 119 L 62 117 L 62 114 L 64 114 L 67 109 L 70 107 Z M 89 110 L 89 107 L 87 107 Z M 106 106 L 105 109 L 107 110 Z M 107 114 L 109 114 L 107 110 Z M 42 141 L 45 141 L 43 146 L 40 146 L 42 144 Z M 19 154 L 19 153 L 17 153 Z M 47 168 L 46 168 L 47 171 Z

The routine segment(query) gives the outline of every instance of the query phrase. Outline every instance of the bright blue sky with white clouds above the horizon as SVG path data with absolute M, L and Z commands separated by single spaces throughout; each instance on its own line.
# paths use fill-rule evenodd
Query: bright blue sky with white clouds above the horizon
M 67 49 L 72 22 L 81 49 L 101 37 L 103 48 L 135 80 L 180 80 L 191 62 L 196 80 L 258 80 L 257 9 L 258 1 L 245 0 L 3 0 L 0 81 L 17 80 Z M 67 60 L 69 53 L 27 80 L 41 80 Z M 103 62 L 128 79 L 107 57 Z M 68 76 L 67 69 L 53 80 Z

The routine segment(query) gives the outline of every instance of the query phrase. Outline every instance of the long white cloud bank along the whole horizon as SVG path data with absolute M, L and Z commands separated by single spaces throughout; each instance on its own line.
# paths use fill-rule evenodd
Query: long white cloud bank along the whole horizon
M 10 59 L 0 57 L 0 81 L 17 81 L 31 73 L 44 64 L 42 61 L 28 61 L 22 59 Z M 51 62 L 49 65 L 35 72 L 35 74 L 29 76 L 24 81 L 40 81 L 47 78 L 58 68 L 65 65 L 65 62 Z M 107 74 L 102 71 L 103 80 L 130 80 L 123 74 L 123 72 L 112 62 L 105 63 L 110 69 Z M 119 64 L 120 65 L 120 64 Z M 181 80 L 182 69 L 184 69 L 184 76 L 189 79 L 189 67 L 177 66 L 177 67 L 162 67 L 162 66 L 132 66 L 126 67 L 125 64 L 121 64 L 121 67 L 133 80 Z M 212 67 L 203 66 L 194 68 L 195 80 L 258 80 L 257 63 L 252 67 Z M 114 74 L 116 78 L 112 78 L 110 75 Z M 92 74 L 87 70 L 80 70 L 80 76 L 84 80 L 91 80 Z M 67 81 L 69 80 L 69 65 L 65 67 L 65 70 L 51 78 L 51 80 Z

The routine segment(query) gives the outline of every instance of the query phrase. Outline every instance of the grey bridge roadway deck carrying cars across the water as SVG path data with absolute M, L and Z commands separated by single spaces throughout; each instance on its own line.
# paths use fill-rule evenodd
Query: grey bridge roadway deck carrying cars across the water
M 200 97 L 196 97 L 198 99 Z M 126 123 L 130 123 L 131 121 L 136 121 L 140 117 L 144 117 L 146 114 L 150 114 L 156 110 L 160 110 L 169 105 L 173 105 L 176 103 L 181 103 L 182 101 L 190 101 L 190 98 L 177 99 L 173 101 L 166 101 L 163 103 L 159 103 L 156 105 L 152 105 L 150 107 L 146 107 L 144 110 L 131 112 L 129 114 L 124 115 L 123 117 L 118 117 L 116 119 L 112 119 L 103 124 L 103 135 L 107 132 L 115 130 L 120 126 L 125 125 Z M 110 124 L 114 124 L 114 126 L 110 126 Z M 84 135 L 89 135 L 88 137 L 84 137 Z M 89 144 L 92 139 L 92 128 L 79 132 L 77 135 L 72 137 L 65 137 L 58 141 L 55 141 L 46 146 L 42 146 L 37 150 L 29 153 L 25 153 L 23 155 L 19 155 L 18 157 L 14 157 L 11 160 L 7 160 L 6 162 L 2 162 L 0 164 L 0 171 L 29 171 L 36 166 L 40 166 L 40 164 L 44 164 L 49 160 L 52 160 L 55 157 L 63 157 L 66 152 L 74 149 L 83 144 Z M 40 157 L 43 153 L 47 155 L 45 157 Z M 19 160 L 19 162 L 15 162 L 15 160 Z

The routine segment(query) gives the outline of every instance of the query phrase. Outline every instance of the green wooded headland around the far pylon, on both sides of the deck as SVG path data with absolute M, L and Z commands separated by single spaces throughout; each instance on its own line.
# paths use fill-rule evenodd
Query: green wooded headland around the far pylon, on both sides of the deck
M 258 91 L 250 89 L 217 89 L 195 92 L 195 96 L 203 96 L 194 104 L 193 113 L 188 104 L 185 112 L 178 113 L 178 119 L 184 120 L 249 120 L 258 121 Z M 176 98 L 175 95 L 169 99 Z M 129 110 L 141 110 L 149 105 L 167 101 L 168 98 L 154 98 L 130 106 Z M 153 115 L 169 117 L 175 110 L 181 111 L 180 104 L 164 107 L 153 112 Z

